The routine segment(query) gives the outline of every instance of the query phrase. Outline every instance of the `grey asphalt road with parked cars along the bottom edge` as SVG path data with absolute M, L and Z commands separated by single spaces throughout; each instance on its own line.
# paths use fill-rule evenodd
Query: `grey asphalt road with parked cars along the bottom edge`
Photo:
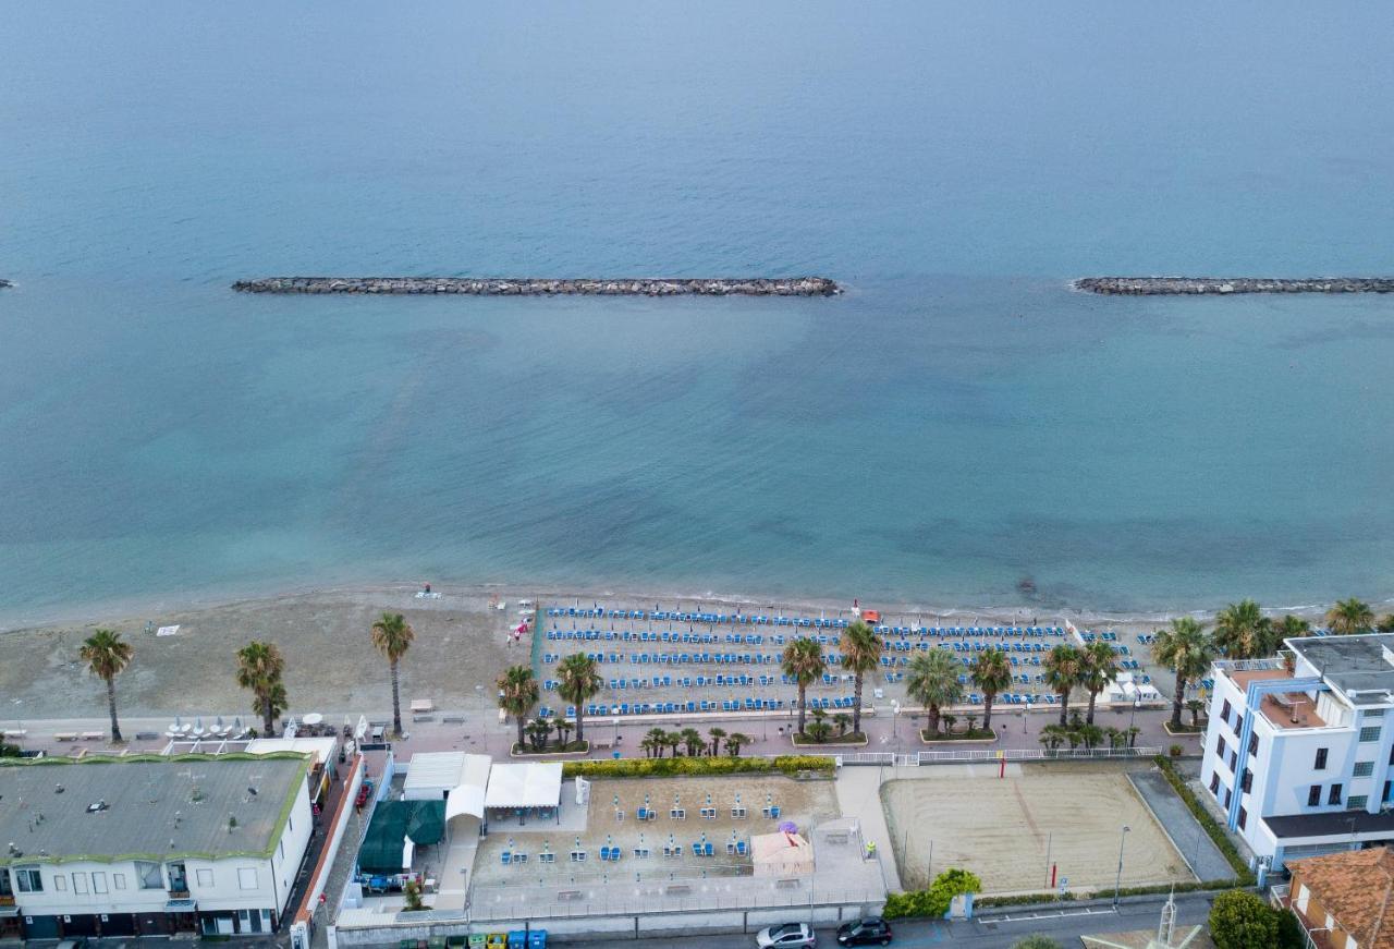
M 1146 903 L 1124 903 L 1115 913 L 1111 907 L 1064 909 L 1059 911 L 1022 916 L 991 916 L 966 922 L 928 922 L 924 920 L 892 922 L 894 946 L 901 949 L 999 949 L 1011 946 L 1016 939 L 1043 932 L 1066 949 L 1079 946 L 1085 934 L 1129 932 L 1133 929 L 1156 931 L 1165 897 Z M 1177 897 L 1177 924 L 1195 925 L 1204 922 L 1210 913 L 1210 897 L 1181 895 Z M 664 939 L 625 941 L 626 946 L 638 949 L 750 949 L 756 945 L 754 935 L 682 936 Z M 834 929 L 818 929 L 820 946 L 835 946 Z

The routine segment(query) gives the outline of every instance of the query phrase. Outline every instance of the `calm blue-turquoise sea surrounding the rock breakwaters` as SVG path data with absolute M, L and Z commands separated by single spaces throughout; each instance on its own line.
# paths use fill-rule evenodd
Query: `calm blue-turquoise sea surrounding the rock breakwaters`
M 521 7 L 521 8 L 520 8 Z M 3 3 L 0 620 L 1394 593 L 1394 7 Z M 832 300 L 272 274 L 824 274 Z

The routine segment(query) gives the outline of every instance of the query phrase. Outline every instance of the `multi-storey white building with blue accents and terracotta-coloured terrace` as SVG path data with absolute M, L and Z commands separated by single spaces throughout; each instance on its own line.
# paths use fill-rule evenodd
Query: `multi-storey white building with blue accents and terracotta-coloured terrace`
M 1260 861 L 1394 842 L 1394 634 L 1217 662 L 1202 783 Z

